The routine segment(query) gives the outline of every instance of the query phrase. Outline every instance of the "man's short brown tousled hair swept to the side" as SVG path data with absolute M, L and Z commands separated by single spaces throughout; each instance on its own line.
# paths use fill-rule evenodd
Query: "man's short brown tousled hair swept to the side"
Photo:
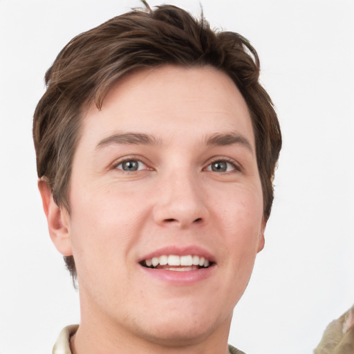
M 45 178 L 55 203 L 70 213 L 68 189 L 84 108 L 101 108 L 106 93 L 138 68 L 165 64 L 214 66 L 229 75 L 248 104 L 263 190 L 265 220 L 273 201 L 274 169 L 281 149 L 277 114 L 259 84 L 259 57 L 235 32 L 212 30 L 176 6 L 132 10 L 73 38 L 46 72 L 46 93 L 33 120 L 37 174 Z M 76 276 L 73 257 L 64 257 Z

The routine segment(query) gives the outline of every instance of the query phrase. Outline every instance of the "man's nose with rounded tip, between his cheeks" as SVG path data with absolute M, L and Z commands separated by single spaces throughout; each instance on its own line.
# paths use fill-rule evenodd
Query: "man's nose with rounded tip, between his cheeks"
M 196 176 L 171 174 L 161 178 L 156 192 L 153 218 L 158 225 L 185 229 L 207 222 L 206 196 Z

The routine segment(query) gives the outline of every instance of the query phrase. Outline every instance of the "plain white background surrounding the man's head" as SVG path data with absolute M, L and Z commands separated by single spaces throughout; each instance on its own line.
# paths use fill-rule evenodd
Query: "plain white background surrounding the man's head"
M 171 1 L 198 15 L 199 1 Z M 259 51 L 283 132 L 276 196 L 230 343 L 312 353 L 354 302 L 354 1 L 202 0 L 212 26 Z M 151 6 L 159 4 L 150 1 Z M 79 32 L 138 0 L 0 0 L 0 353 L 50 353 L 80 321 L 37 192 L 32 113 L 44 73 Z

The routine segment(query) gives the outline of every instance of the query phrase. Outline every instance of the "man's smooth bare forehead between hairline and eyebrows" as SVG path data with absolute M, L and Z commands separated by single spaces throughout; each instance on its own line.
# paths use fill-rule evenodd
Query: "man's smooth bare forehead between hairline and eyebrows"
M 254 144 L 250 113 L 239 89 L 211 66 L 162 66 L 127 75 L 111 88 L 101 111 L 95 105 L 86 111 L 83 126 L 86 138 L 112 130 L 138 129 L 156 138 L 183 133 L 186 139 L 196 133 L 236 131 L 247 133 Z

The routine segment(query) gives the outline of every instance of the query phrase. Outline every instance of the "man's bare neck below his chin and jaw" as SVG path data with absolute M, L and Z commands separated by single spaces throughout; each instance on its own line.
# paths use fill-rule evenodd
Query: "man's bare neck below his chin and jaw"
M 112 319 L 82 313 L 77 333 L 71 337 L 72 354 L 227 354 L 232 314 L 208 333 L 187 339 L 156 339 L 132 333 Z

